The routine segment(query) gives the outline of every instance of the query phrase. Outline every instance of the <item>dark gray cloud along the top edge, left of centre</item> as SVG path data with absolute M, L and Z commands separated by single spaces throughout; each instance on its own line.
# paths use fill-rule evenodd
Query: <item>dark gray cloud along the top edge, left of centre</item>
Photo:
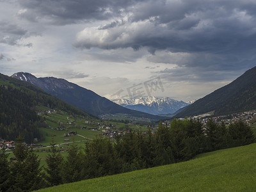
M 31 15 L 37 15 L 38 19 L 47 18 L 60 25 L 81 20 L 108 20 L 120 16 L 125 8 L 132 6 L 134 2 L 133 0 L 19 1 L 20 5 L 27 10 L 24 13 L 25 17 L 31 19 L 33 18 Z

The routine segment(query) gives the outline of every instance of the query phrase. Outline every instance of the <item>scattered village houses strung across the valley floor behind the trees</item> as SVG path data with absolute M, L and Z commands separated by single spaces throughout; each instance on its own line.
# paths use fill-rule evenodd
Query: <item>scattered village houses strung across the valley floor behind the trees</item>
M 47 113 L 54 113 L 55 111 L 47 111 Z M 194 119 L 199 119 L 200 122 L 205 126 L 207 123 L 207 120 L 209 120 L 209 116 L 207 115 L 198 115 L 198 116 L 193 116 Z M 240 113 L 233 113 L 231 115 L 220 115 L 220 116 L 214 116 L 211 117 L 214 122 L 224 122 L 225 125 L 230 125 L 237 120 L 241 119 L 243 122 L 246 122 L 248 125 L 255 125 L 256 123 L 256 110 L 252 111 L 245 111 L 245 112 L 240 112 Z M 179 118 L 180 120 L 184 120 L 185 118 Z M 136 122 L 129 122 L 125 124 L 124 127 L 117 127 L 113 123 L 104 123 L 104 122 L 93 122 L 93 121 L 85 121 L 85 124 L 88 126 L 81 126 L 79 129 L 88 129 L 90 131 L 98 131 L 101 132 L 99 136 L 102 137 L 107 137 L 107 138 L 115 138 L 116 135 L 124 135 L 125 133 L 129 132 L 132 125 L 136 125 Z M 74 125 L 76 122 L 74 121 L 68 121 L 66 123 L 67 125 Z M 163 124 L 167 125 L 168 127 L 170 126 L 170 121 L 164 121 Z M 137 125 L 136 125 L 137 126 Z M 152 133 L 157 131 L 157 124 L 154 125 L 147 125 L 147 128 L 150 128 Z M 71 126 L 70 126 L 71 127 Z M 56 131 L 68 131 L 70 127 L 49 127 L 47 126 L 47 129 L 54 129 Z M 137 126 L 138 127 L 138 126 Z M 253 127 L 255 128 L 255 126 Z M 139 127 L 136 131 L 140 131 Z M 145 132 L 145 131 L 144 131 Z M 74 131 L 69 131 L 67 133 L 63 134 L 63 141 L 68 142 L 70 139 L 68 137 L 71 136 L 76 136 L 77 132 Z M 55 135 L 53 135 L 55 136 Z M 31 148 L 44 148 L 47 146 L 44 145 L 38 145 L 38 144 L 26 144 L 27 147 Z M 5 148 L 5 150 L 12 150 L 15 146 L 15 141 L 5 141 L 5 140 L 0 140 L 0 149 Z

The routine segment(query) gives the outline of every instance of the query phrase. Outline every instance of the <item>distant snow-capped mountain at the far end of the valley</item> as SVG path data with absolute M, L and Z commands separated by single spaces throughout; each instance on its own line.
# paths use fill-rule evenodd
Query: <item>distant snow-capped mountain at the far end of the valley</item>
M 172 114 L 180 108 L 189 105 L 182 100 L 174 100 L 169 97 L 157 98 L 154 96 L 140 97 L 137 99 L 118 99 L 113 100 L 113 102 L 125 108 L 150 113 L 152 115 Z

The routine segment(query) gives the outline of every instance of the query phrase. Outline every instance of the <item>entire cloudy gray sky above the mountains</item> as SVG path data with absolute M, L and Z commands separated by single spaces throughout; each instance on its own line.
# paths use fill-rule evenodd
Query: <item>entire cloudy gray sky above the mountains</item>
M 200 99 L 256 61 L 254 0 L 0 0 L 0 73 Z

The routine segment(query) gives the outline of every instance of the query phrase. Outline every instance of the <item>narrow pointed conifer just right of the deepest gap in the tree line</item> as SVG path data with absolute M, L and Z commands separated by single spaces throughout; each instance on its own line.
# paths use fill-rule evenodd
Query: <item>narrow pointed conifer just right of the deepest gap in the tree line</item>
M 52 139 L 51 143 L 51 154 L 46 157 L 47 168 L 45 168 L 45 178 L 49 182 L 50 186 L 58 186 L 62 183 L 61 180 L 61 165 L 63 162 L 63 157 L 60 152 L 57 151 L 55 147 L 56 143 Z

